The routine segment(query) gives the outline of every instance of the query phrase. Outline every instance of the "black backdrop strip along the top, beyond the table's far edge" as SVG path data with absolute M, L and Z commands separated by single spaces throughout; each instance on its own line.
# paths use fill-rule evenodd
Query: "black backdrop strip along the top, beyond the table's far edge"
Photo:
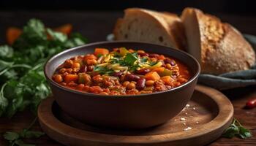
M 1 10 L 76 10 L 116 11 L 127 7 L 144 7 L 181 12 L 184 7 L 197 7 L 207 12 L 255 15 L 253 0 L 0 0 Z

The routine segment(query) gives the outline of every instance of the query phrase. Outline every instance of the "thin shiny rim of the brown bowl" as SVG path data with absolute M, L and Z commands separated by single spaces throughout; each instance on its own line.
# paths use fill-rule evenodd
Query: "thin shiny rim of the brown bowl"
M 50 64 L 50 62 L 53 61 L 55 58 L 58 58 L 60 55 L 62 55 L 64 53 L 67 53 L 67 52 L 72 51 L 72 50 L 77 50 L 77 49 L 79 49 L 81 47 L 89 47 L 89 46 L 92 46 L 92 45 L 104 45 L 104 44 L 109 44 L 109 43 L 113 43 L 113 44 L 115 44 L 115 43 L 131 43 L 131 44 L 132 43 L 139 43 L 139 44 L 144 44 L 144 45 L 157 45 L 157 44 L 148 43 L 148 42 L 136 42 L 136 41 L 111 41 L 111 42 L 109 42 L 109 41 L 102 41 L 102 42 L 92 42 L 92 43 L 89 43 L 89 44 L 86 44 L 86 45 L 80 45 L 78 47 L 72 47 L 72 48 L 69 48 L 67 50 L 61 51 L 60 53 L 57 53 L 56 55 L 53 55 L 52 57 L 48 58 L 48 60 L 45 62 L 44 68 L 43 68 L 44 74 L 45 74 L 45 78 L 48 80 L 48 82 L 50 82 L 50 84 L 53 84 L 56 87 L 61 88 L 61 90 L 64 90 L 64 91 L 68 91 L 68 92 L 72 92 L 72 93 L 78 93 L 80 95 L 87 96 L 87 97 L 100 96 L 100 97 L 106 97 L 106 98 L 115 98 L 115 99 L 118 98 L 118 99 L 120 99 L 120 98 L 133 98 L 133 97 L 138 97 L 138 96 L 151 96 L 151 95 L 155 95 L 155 94 L 167 93 L 167 92 L 171 92 L 171 91 L 181 90 L 181 88 L 184 88 L 185 86 L 189 85 L 194 80 L 196 80 L 197 77 L 200 74 L 200 64 L 192 55 L 190 55 L 189 53 L 184 52 L 183 50 L 178 50 L 178 49 L 175 49 L 174 47 L 167 47 L 167 46 L 164 46 L 164 45 L 157 45 L 157 46 L 159 46 L 159 47 L 166 47 L 168 49 L 172 49 L 174 51 L 178 51 L 179 53 L 183 53 L 184 55 L 189 56 L 189 58 L 192 58 L 192 60 L 194 60 L 196 65 L 197 65 L 197 71 L 195 72 L 193 77 L 191 77 L 184 84 L 179 85 L 179 86 L 177 86 L 175 88 L 168 89 L 166 91 L 158 91 L 158 92 L 153 92 L 153 93 L 143 93 L 143 94 L 136 94 L 136 95 L 102 95 L 102 94 L 99 94 L 99 93 L 87 93 L 87 92 L 82 92 L 82 91 L 76 91 L 76 90 L 73 90 L 73 89 L 66 88 L 66 87 L 64 87 L 62 85 L 59 85 L 57 82 L 54 82 L 52 80 L 52 78 L 48 77 L 48 75 L 46 74 L 46 67 Z

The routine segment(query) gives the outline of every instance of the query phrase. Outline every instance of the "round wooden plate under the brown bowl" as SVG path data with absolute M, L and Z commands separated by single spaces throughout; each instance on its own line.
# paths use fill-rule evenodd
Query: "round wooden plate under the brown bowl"
M 43 131 L 64 145 L 206 145 L 230 125 L 233 106 L 219 91 L 197 85 L 179 115 L 153 128 L 118 130 L 89 126 L 62 112 L 54 98 L 42 101 L 38 117 Z

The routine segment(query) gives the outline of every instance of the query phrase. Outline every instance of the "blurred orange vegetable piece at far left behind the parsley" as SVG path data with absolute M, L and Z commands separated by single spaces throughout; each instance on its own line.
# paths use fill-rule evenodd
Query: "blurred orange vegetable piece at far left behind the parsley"
M 22 31 L 19 28 L 15 28 L 15 27 L 10 27 L 7 28 L 7 43 L 9 45 L 12 45 L 16 39 L 18 39 L 18 37 L 20 37 L 20 34 L 22 33 Z

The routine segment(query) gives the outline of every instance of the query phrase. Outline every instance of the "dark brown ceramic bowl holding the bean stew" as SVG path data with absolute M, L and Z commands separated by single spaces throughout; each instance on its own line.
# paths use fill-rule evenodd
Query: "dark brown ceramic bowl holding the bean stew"
M 51 79 L 55 69 L 75 55 L 94 53 L 95 47 L 128 47 L 159 53 L 182 61 L 192 74 L 191 79 L 168 91 L 135 96 L 104 96 L 64 88 Z M 200 73 L 200 65 L 191 55 L 170 47 L 142 42 L 96 42 L 65 50 L 45 64 L 45 77 L 57 103 L 64 112 L 84 123 L 116 128 L 148 128 L 165 123 L 186 106 Z

